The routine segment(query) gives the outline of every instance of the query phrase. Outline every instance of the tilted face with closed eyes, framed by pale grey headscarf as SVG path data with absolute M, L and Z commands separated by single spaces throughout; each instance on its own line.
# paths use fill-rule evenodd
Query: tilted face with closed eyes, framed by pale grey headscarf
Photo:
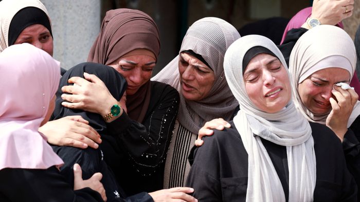
M 261 53 L 253 57 L 244 71 L 246 92 L 256 107 L 275 113 L 289 103 L 289 76 L 277 57 Z

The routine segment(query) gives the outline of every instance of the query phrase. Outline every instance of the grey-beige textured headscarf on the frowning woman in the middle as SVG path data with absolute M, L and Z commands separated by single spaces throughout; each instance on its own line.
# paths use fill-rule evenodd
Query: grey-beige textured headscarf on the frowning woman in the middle
M 205 122 L 222 117 L 229 120 L 238 102 L 233 97 L 224 76 L 223 61 L 227 48 L 236 39 L 239 32 L 217 17 L 205 17 L 190 26 L 183 39 L 179 53 L 192 50 L 200 54 L 210 65 L 215 75 L 215 82 L 209 94 L 199 101 L 186 100 L 180 94 L 179 122 L 192 133 L 199 132 Z M 169 84 L 180 91 L 178 55 L 152 80 Z

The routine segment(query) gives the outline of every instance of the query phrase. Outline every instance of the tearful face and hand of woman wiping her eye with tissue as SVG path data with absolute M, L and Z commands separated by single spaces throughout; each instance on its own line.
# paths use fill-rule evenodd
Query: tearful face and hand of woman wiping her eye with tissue
M 341 141 L 347 132 L 351 112 L 358 95 L 353 89 L 343 90 L 336 83 L 349 84 L 350 73 L 341 68 L 330 67 L 314 72 L 298 85 L 301 102 L 314 114 L 326 114 L 326 125 Z

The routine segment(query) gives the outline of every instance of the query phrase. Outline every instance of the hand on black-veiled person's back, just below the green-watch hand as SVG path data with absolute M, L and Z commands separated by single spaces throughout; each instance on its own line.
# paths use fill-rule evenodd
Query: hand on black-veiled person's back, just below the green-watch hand
M 47 137 L 47 142 L 57 146 L 70 146 L 85 149 L 90 146 L 94 149 L 102 142 L 96 130 L 88 125 L 88 121 L 81 116 L 66 116 L 47 122 L 39 128 Z

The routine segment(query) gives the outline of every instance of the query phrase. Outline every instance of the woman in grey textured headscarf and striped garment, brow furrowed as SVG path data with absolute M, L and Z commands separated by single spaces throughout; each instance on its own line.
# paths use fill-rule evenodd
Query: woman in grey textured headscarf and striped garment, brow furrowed
M 223 19 L 202 18 L 188 29 L 179 55 L 152 78 L 176 88 L 181 100 L 166 160 L 164 188 L 185 185 L 190 170 L 187 156 L 201 126 L 215 117 L 230 120 L 238 106 L 226 83 L 223 58 L 239 37 Z

